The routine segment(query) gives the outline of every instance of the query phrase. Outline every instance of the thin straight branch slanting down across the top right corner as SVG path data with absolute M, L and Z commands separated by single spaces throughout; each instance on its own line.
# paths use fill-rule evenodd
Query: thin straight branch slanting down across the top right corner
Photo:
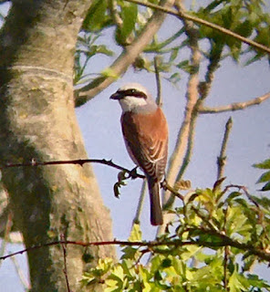
M 223 33 L 224 35 L 232 36 L 232 37 L 240 40 L 241 42 L 245 43 L 246 45 L 251 46 L 251 47 L 255 47 L 255 48 L 262 50 L 265 53 L 270 55 L 270 48 L 269 47 L 265 47 L 264 45 L 261 45 L 257 42 L 254 42 L 253 40 L 251 40 L 249 38 L 235 34 L 233 31 L 226 29 L 223 26 L 215 25 L 215 24 L 213 24 L 209 21 L 206 21 L 202 18 L 199 18 L 196 16 L 190 16 L 190 15 L 183 13 L 183 12 L 177 12 L 177 11 L 174 11 L 172 9 L 164 8 L 164 7 L 161 7 L 160 5 L 154 5 L 154 4 L 151 4 L 150 2 L 145 3 L 145 2 L 138 1 L 138 0 L 125 0 L 125 1 L 135 3 L 138 5 L 147 6 L 147 7 L 152 8 L 152 9 L 163 11 L 164 13 L 169 14 L 171 16 L 177 16 L 177 17 L 180 17 L 183 19 L 191 20 L 192 22 L 199 24 L 199 25 L 211 27 L 214 30 L 217 30 L 217 31 Z

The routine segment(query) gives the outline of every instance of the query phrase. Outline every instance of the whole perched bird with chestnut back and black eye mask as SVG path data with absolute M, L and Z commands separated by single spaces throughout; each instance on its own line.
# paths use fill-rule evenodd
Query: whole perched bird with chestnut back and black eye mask
M 145 173 L 150 203 L 151 224 L 163 223 L 160 184 L 168 153 L 168 126 L 160 107 L 147 90 L 137 83 L 121 87 L 110 99 L 119 100 L 121 126 L 132 161 Z

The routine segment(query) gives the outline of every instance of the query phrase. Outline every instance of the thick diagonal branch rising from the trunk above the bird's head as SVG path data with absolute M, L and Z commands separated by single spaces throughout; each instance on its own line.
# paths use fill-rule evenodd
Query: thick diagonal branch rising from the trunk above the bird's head
M 173 0 L 161 0 L 161 7 L 169 8 L 173 4 Z M 76 106 L 79 107 L 85 104 L 89 99 L 94 98 L 100 91 L 106 89 L 112 82 L 119 78 L 130 65 L 140 55 L 144 47 L 151 42 L 152 37 L 160 29 L 165 17 L 160 10 L 156 10 L 151 16 L 151 20 L 141 31 L 140 35 L 130 44 L 125 47 L 122 54 L 113 62 L 107 69 L 111 74 L 103 75 L 94 79 L 91 83 L 82 89 L 79 89 L 76 97 Z

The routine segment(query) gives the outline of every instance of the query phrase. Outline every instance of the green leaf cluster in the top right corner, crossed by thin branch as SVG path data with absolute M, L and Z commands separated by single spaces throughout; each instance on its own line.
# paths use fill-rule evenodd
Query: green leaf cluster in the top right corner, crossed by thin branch
M 262 0 L 215 0 L 206 7 L 201 7 L 195 16 L 213 24 L 222 26 L 232 32 L 253 39 L 266 47 L 270 46 L 270 16 Z M 244 48 L 240 40 L 232 36 L 215 31 L 207 26 L 200 26 L 200 38 L 208 39 L 211 49 L 218 53 L 227 48 L 228 54 L 223 57 L 232 57 L 235 61 L 246 53 L 252 52 L 246 64 L 265 56 L 264 52 L 256 51 L 252 47 Z M 250 56 L 250 55 L 249 55 Z

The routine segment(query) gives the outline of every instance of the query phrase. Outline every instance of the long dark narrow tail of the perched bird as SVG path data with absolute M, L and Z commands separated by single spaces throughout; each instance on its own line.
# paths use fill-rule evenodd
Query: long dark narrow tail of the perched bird
M 161 210 L 160 183 L 151 178 L 148 178 L 147 182 L 150 193 L 151 224 L 161 225 L 163 224 L 163 216 Z

